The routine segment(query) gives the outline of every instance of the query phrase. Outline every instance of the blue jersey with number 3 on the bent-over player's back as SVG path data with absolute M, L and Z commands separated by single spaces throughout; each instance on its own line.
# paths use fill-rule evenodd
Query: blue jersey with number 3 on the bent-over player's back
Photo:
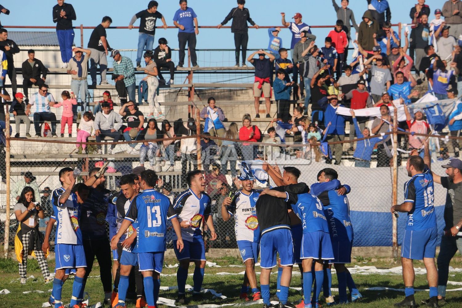
M 329 232 L 322 203 L 312 194 L 299 194 L 297 203 L 292 204 L 292 210 L 302 220 L 303 233 Z

